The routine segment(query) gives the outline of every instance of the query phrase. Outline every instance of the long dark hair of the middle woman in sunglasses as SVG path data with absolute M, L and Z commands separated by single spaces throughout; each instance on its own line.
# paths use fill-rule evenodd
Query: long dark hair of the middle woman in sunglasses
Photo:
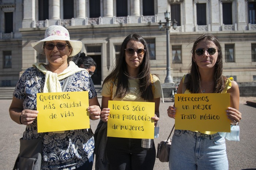
M 129 76 L 127 71 L 127 63 L 125 62 L 125 50 L 124 50 L 129 41 L 138 41 L 142 43 L 144 46 L 144 49 L 146 50 L 143 57 L 143 61 L 140 65 L 139 75 L 137 76 L 136 79 L 139 79 L 140 81 L 139 83 L 140 96 L 144 100 L 153 101 L 154 96 L 153 96 L 153 91 L 152 91 L 151 82 L 150 82 L 150 60 L 149 60 L 150 56 L 148 53 L 148 47 L 147 47 L 146 40 L 138 34 L 130 34 L 124 39 L 120 47 L 120 53 L 116 58 L 114 69 L 103 81 L 103 84 L 114 80 L 114 83 L 117 86 L 116 94 L 114 95 L 114 97 L 117 97 L 117 98 L 124 98 L 127 92 L 129 92 L 128 78 L 132 78 L 132 77 Z

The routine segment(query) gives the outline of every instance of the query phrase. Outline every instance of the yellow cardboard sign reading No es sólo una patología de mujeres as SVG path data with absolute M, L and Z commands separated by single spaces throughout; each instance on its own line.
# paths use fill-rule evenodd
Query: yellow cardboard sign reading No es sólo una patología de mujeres
M 109 100 L 108 137 L 154 139 L 155 103 Z

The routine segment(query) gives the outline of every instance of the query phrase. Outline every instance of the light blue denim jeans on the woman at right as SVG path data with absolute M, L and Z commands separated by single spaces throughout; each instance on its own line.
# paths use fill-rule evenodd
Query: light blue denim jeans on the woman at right
M 170 170 L 228 170 L 225 138 L 175 130 L 169 155 Z

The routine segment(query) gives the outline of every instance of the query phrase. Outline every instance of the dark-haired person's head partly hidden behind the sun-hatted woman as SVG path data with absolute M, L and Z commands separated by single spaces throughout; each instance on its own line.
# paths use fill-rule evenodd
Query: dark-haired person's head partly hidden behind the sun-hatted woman
M 89 75 L 92 76 L 96 70 L 96 63 L 90 56 L 86 56 L 83 53 L 78 53 L 72 57 L 72 61 L 80 68 L 84 68 L 89 72 Z

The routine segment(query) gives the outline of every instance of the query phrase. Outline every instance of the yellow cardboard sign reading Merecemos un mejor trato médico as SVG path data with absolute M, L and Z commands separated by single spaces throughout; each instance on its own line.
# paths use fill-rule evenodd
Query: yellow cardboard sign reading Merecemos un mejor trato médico
M 230 132 L 229 93 L 175 94 L 175 129 Z

